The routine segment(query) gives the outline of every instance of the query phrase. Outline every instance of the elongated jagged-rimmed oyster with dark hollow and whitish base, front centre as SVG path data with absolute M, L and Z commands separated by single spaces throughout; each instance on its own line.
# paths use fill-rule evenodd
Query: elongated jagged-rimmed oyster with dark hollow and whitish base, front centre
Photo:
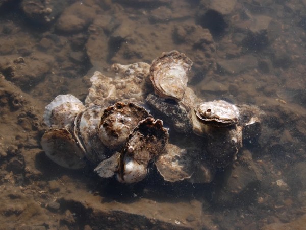
M 122 183 L 143 180 L 148 172 L 148 164 L 164 149 L 168 137 L 168 130 L 163 127 L 162 120 L 146 118 L 139 122 L 120 153 L 117 180 Z

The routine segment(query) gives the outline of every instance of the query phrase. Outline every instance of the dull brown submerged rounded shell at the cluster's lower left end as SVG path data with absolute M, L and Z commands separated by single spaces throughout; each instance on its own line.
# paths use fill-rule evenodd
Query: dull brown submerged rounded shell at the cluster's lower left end
M 46 155 L 56 164 L 68 169 L 84 168 L 84 152 L 65 128 L 49 128 L 41 138 Z

